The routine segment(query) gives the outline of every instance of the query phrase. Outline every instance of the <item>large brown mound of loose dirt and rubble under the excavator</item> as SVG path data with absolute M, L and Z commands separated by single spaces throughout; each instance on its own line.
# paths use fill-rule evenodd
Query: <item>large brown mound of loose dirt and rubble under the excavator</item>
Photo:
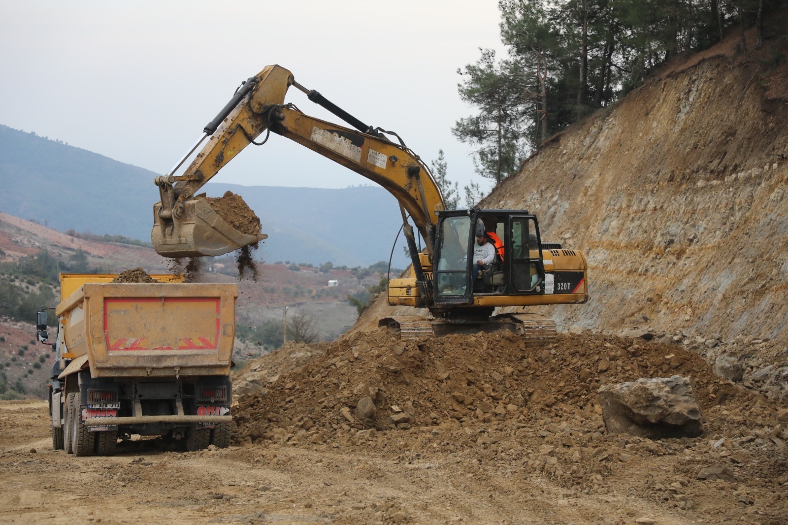
M 673 374 L 697 384 L 701 438 L 605 433 L 600 385 Z M 765 517 L 782 519 L 781 409 L 718 378 L 697 354 L 640 338 L 563 334 L 531 352 L 512 333 L 400 341 L 374 332 L 328 344 L 269 390 L 240 396 L 233 439 L 360 447 L 422 464 L 469 460 L 479 472 L 541 475 L 583 494 L 623 490 L 692 516 L 744 516 L 759 501 Z M 700 481 L 705 467 L 727 468 L 736 481 Z

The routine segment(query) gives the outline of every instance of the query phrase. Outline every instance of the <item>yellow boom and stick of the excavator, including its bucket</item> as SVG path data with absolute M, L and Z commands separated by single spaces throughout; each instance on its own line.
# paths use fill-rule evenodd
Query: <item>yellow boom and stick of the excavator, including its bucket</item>
M 291 85 L 360 129 L 322 121 L 303 114 L 292 104 L 285 104 L 284 96 Z M 173 174 L 179 164 L 168 175 L 155 179 L 162 199 L 154 205 L 151 240 L 159 254 L 221 255 L 265 238 L 238 231 L 205 199 L 195 197 L 199 188 L 244 147 L 259 144 L 255 139 L 263 132 L 286 136 L 386 188 L 400 203 L 409 244 L 414 236 L 412 231 L 408 232 L 407 215 L 428 240 L 429 249 L 432 248 L 437 212 L 444 210 L 444 201 L 418 155 L 334 106 L 317 91 L 305 89 L 287 69 L 269 65 L 251 77 L 203 131 L 206 134 L 203 140 L 209 138 L 209 141 L 184 174 Z M 409 246 L 411 253 L 415 252 L 414 246 L 414 243 Z

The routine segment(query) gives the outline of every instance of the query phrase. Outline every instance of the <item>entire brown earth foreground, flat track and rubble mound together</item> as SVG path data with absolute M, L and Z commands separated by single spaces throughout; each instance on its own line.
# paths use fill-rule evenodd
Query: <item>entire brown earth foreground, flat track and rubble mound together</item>
M 788 523 L 788 410 L 678 346 L 359 333 L 284 367 L 288 348 L 249 368 L 290 371 L 238 397 L 229 449 L 74 457 L 44 402 L 0 402 L 0 522 Z M 704 434 L 607 434 L 597 385 L 660 374 L 694 378 Z

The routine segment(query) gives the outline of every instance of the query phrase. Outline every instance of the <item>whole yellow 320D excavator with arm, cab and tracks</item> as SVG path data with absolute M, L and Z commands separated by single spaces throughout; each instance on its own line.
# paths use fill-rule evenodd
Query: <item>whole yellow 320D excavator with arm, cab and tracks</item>
M 290 86 L 352 128 L 303 114 L 284 97 Z M 151 240 L 165 257 L 221 255 L 266 238 L 243 233 L 197 195 L 203 184 L 250 143 L 270 132 L 285 136 L 380 184 L 400 203 L 411 273 L 388 282 L 388 304 L 429 309 L 429 316 L 380 320 L 403 337 L 513 330 L 544 343 L 555 322 L 529 314 L 492 315 L 496 307 L 524 307 L 588 300 L 587 265 L 578 250 L 543 244 L 537 218 L 527 210 L 446 210 L 429 169 L 395 132 L 364 124 L 292 73 L 269 65 L 243 82 L 204 136 L 167 175 L 156 177 L 161 202 L 154 205 Z M 265 140 L 255 142 L 266 132 Z M 388 137 L 396 138 L 396 142 Z M 208 143 L 185 169 L 174 173 L 199 145 Z M 413 222 L 425 248 L 419 251 Z M 474 244 L 495 246 L 492 263 L 474 271 Z

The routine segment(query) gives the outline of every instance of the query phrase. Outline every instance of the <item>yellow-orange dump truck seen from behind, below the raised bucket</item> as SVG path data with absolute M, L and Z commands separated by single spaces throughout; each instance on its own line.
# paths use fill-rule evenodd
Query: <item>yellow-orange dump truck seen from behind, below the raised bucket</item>
M 237 285 L 116 277 L 61 274 L 61 302 L 38 312 L 38 340 L 57 354 L 48 383 L 53 448 L 108 456 L 132 436 L 187 450 L 228 446 Z

